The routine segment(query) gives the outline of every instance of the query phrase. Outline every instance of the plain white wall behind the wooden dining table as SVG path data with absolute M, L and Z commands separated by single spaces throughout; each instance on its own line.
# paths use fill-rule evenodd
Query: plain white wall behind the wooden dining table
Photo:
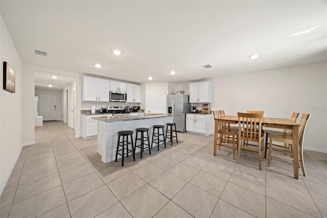
M 327 62 L 211 79 L 212 111 L 227 115 L 247 110 L 265 117 L 291 118 L 292 112 L 312 114 L 304 149 L 327 152 Z M 186 83 L 176 88 L 186 88 Z M 185 89 L 186 90 L 186 89 Z

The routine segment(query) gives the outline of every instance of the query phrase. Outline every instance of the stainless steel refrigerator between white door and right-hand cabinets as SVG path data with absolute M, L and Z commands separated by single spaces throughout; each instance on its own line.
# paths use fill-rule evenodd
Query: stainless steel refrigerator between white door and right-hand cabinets
M 168 114 L 179 115 L 174 116 L 174 123 L 178 132 L 185 132 L 186 113 L 190 112 L 189 95 L 171 94 L 167 96 Z

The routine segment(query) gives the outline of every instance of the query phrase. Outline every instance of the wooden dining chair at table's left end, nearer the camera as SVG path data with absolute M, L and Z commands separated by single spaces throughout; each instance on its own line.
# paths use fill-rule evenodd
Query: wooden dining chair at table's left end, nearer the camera
M 217 115 L 217 111 L 214 112 L 214 117 L 216 117 L 216 116 L 221 117 L 221 113 L 219 113 L 219 115 Z M 228 127 L 227 123 L 218 121 L 218 134 L 219 134 L 219 137 L 217 140 L 218 149 L 220 149 L 221 146 L 231 148 L 233 151 L 233 160 L 235 160 L 235 151 L 237 149 L 238 129 L 235 129 L 235 128 L 231 129 L 230 127 Z

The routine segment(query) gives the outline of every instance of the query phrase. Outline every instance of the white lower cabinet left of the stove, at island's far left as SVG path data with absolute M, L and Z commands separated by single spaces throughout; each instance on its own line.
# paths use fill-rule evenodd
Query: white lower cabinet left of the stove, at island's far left
M 98 135 L 98 120 L 91 117 L 104 117 L 104 115 L 82 115 L 82 138 L 93 139 Z

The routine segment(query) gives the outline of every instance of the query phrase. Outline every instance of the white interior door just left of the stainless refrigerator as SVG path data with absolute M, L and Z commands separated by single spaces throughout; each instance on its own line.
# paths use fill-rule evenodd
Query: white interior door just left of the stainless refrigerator
M 166 90 L 148 89 L 147 113 L 166 114 Z

